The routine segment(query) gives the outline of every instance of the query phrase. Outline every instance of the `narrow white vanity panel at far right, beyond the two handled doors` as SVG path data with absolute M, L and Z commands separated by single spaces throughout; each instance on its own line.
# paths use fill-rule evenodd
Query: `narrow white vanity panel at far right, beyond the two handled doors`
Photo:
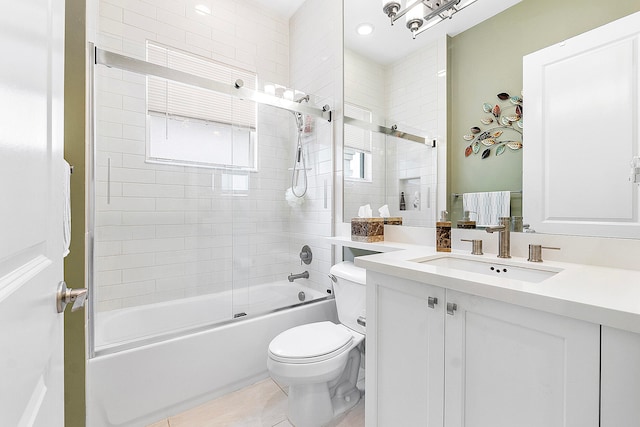
M 640 334 L 602 327 L 601 427 L 640 423 Z

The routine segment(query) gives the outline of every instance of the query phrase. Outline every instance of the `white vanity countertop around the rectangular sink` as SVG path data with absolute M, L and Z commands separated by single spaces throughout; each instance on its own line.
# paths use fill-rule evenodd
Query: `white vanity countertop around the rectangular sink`
M 640 271 L 556 261 L 531 263 L 520 257 L 502 259 L 495 254 L 472 256 L 469 251 L 451 252 L 455 256 L 496 264 L 561 270 L 542 282 L 531 283 L 422 264 L 414 260 L 448 254 L 436 252 L 433 247 L 399 245 L 402 247 L 385 242 L 386 247 L 394 246 L 395 250 L 357 257 L 355 264 L 389 276 L 640 333 Z M 374 247 L 371 250 L 376 250 Z

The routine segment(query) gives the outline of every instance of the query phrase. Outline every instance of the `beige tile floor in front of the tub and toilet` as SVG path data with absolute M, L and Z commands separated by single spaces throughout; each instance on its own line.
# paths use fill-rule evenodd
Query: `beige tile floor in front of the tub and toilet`
M 147 427 L 292 427 L 287 395 L 271 378 Z M 364 427 L 364 399 L 329 427 Z

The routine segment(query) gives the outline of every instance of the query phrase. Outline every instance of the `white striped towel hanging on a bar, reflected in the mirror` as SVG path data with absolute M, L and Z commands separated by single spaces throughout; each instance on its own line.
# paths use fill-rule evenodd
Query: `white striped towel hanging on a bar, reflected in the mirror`
M 462 209 L 470 212 L 470 219 L 478 227 L 498 225 L 498 218 L 511 215 L 511 192 L 464 193 Z

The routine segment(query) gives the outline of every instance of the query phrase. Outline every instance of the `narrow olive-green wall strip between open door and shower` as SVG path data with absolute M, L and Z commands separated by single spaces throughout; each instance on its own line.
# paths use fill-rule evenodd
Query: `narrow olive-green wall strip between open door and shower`
M 71 288 L 85 286 L 85 0 L 65 2 L 64 157 L 71 176 L 71 247 L 64 279 Z M 64 315 L 64 411 L 66 427 L 85 425 L 84 310 Z

